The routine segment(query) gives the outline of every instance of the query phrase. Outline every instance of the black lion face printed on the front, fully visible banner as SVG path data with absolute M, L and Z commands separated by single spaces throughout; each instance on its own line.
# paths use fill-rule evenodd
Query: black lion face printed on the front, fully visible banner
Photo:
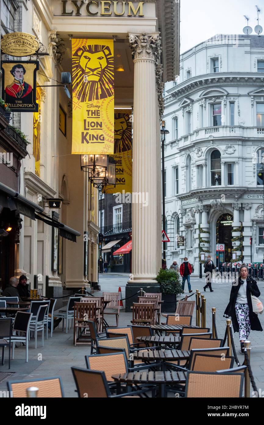
M 106 45 L 87 45 L 73 53 L 73 92 L 81 102 L 114 95 L 114 58 Z

